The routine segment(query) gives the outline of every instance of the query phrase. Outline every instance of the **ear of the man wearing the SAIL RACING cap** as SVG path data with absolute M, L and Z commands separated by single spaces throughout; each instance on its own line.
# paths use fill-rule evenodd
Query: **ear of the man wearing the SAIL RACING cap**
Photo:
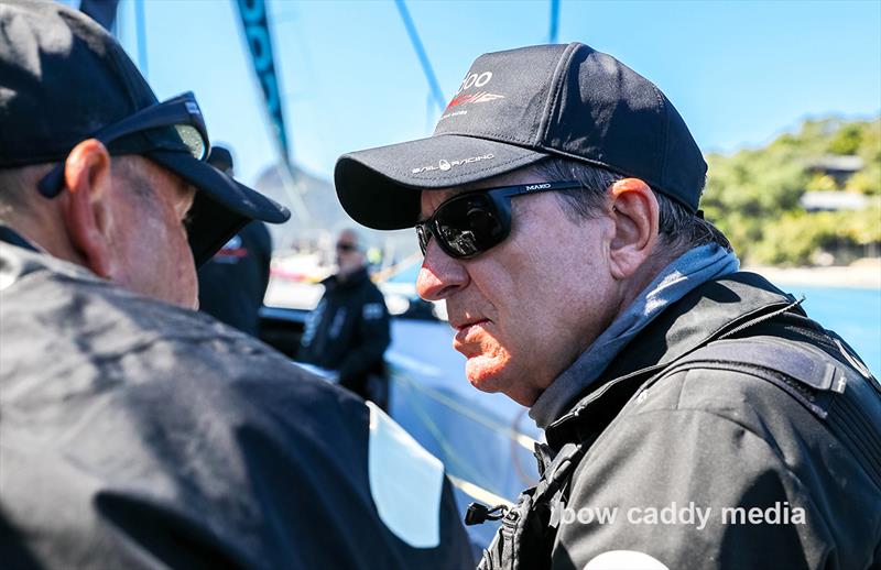
M 657 198 L 639 178 L 624 178 L 611 187 L 614 237 L 609 245 L 612 276 L 633 275 L 657 243 Z

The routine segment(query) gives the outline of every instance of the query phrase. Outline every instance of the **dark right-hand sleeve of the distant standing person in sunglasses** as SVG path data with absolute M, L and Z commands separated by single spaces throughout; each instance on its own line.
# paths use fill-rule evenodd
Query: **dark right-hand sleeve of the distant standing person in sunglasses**
M 382 361 L 382 354 L 391 343 L 389 309 L 378 289 L 371 289 L 359 307 L 356 336 L 360 339 L 342 358 L 339 366 L 339 383 L 347 387 L 359 382 L 363 375 Z

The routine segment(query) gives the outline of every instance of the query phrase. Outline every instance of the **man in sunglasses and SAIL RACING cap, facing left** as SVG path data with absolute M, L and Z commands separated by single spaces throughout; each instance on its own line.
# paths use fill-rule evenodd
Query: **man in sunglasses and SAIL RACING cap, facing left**
M 545 429 L 481 568 L 878 568 L 881 386 L 739 272 L 650 81 L 583 44 L 480 56 L 431 138 L 346 154 L 339 199 L 415 226 L 478 390 Z M 502 469 L 502 465 L 500 465 Z

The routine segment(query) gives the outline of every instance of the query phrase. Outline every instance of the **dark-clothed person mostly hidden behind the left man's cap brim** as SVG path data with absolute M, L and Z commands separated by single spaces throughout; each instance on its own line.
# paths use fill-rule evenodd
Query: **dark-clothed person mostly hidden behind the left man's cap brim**
M 232 155 L 222 146 L 211 147 L 208 164 L 227 176 L 235 174 Z M 199 310 L 258 337 L 271 261 L 272 238 L 267 226 L 250 222 L 199 267 Z

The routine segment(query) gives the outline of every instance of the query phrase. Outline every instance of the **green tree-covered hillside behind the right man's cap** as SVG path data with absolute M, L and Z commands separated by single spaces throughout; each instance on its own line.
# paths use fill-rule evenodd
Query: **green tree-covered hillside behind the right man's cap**
M 857 155 L 863 168 L 844 188 L 814 167 L 828 155 Z M 863 210 L 806 212 L 805 191 L 881 196 L 881 118 L 805 121 L 764 149 L 710 154 L 701 208 L 747 263 L 809 264 L 816 252 L 881 242 L 878 198 Z

